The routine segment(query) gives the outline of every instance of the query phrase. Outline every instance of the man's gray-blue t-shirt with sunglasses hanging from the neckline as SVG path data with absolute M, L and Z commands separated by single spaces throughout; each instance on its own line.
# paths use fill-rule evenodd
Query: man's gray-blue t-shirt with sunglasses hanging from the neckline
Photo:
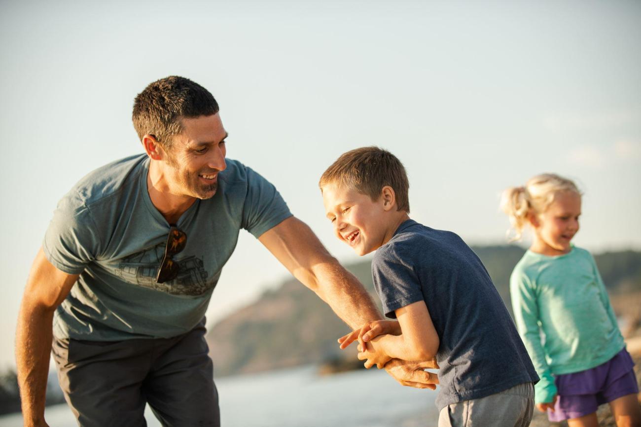
M 58 203 L 42 247 L 47 260 L 80 274 L 54 315 L 58 339 L 167 338 L 204 317 L 238 232 L 255 237 L 290 213 L 276 188 L 235 160 L 210 199 L 197 199 L 176 226 L 187 234 L 172 259 L 178 276 L 156 283 L 170 224 L 147 191 L 147 155 L 90 172 Z

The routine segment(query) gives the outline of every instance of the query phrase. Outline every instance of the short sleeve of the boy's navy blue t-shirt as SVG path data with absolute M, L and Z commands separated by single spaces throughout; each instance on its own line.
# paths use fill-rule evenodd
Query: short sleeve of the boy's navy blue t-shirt
M 374 287 L 383 304 L 383 312 L 391 319 L 395 310 L 422 301 L 423 292 L 410 254 L 394 245 L 382 247 L 372 260 Z

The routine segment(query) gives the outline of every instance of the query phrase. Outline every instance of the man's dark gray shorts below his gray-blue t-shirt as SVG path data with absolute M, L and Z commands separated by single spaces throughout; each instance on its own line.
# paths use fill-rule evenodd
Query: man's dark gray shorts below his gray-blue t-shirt
M 53 340 L 58 380 L 81 427 L 221 424 L 204 321 L 169 339 Z

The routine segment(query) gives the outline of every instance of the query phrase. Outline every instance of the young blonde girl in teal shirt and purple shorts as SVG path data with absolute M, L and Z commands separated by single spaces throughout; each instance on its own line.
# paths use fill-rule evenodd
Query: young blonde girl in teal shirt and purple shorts
M 579 231 L 581 192 L 554 174 L 503 192 L 516 239 L 525 226 L 533 242 L 510 278 L 519 334 L 541 380 L 535 403 L 550 421 L 598 426 L 610 403 L 617 426 L 640 426 L 634 362 L 592 255 L 570 242 Z M 543 335 L 543 337 L 542 337 Z

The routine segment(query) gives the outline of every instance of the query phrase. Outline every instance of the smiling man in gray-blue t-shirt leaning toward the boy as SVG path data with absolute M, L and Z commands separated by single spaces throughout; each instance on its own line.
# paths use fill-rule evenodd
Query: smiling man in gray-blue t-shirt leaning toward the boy
M 49 352 L 81 426 L 218 426 L 204 313 L 244 228 L 352 328 L 379 319 L 356 278 L 289 212 L 271 183 L 225 158 L 206 89 L 172 76 L 138 94 L 144 155 L 90 172 L 58 203 L 19 315 L 25 426 L 46 426 Z M 433 387 L 418 365 L 388 371 Z

